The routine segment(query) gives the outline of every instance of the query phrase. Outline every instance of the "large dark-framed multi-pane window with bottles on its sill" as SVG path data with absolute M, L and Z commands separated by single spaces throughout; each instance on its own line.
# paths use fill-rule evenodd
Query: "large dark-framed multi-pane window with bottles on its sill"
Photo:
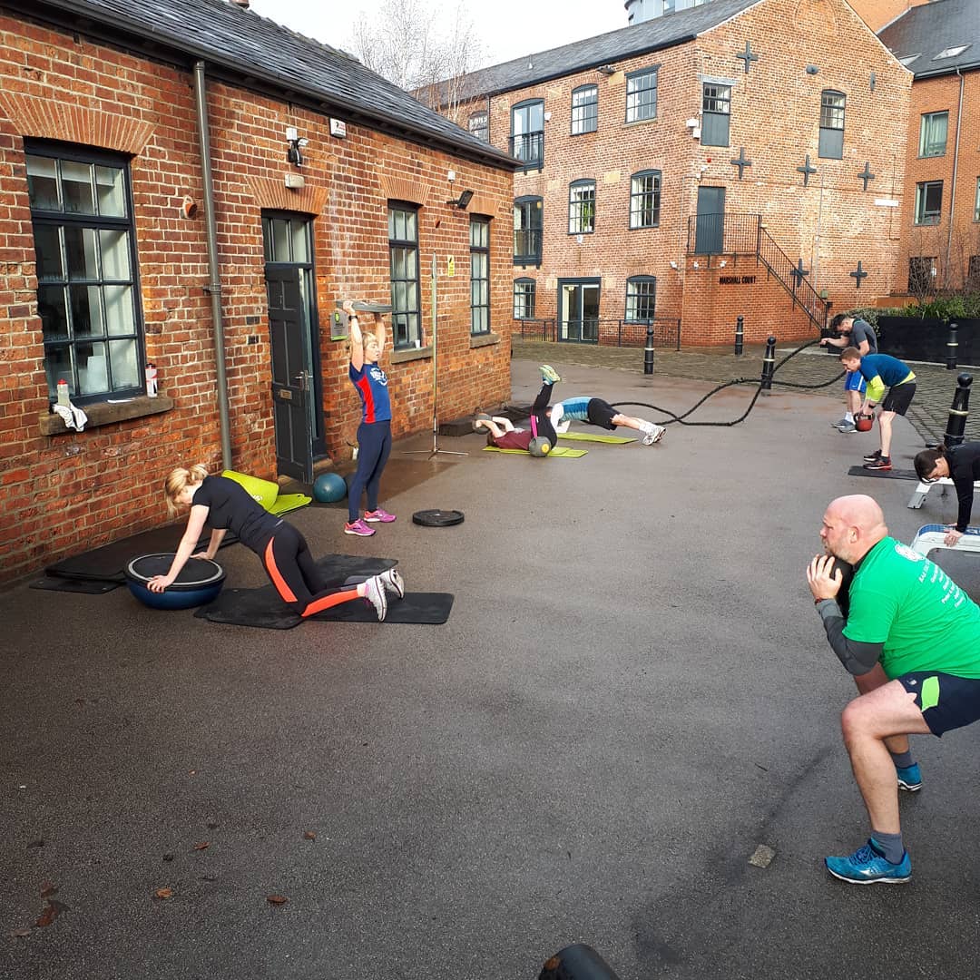
M 86 147 L 25 143 L 48 396 L 142 394 L 143 324 L 129 165 Z

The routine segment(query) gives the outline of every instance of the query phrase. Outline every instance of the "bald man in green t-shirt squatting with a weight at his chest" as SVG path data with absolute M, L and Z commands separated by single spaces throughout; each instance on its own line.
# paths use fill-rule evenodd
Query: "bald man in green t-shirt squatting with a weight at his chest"
M 980 719 L 980 607 L 942 568 L 889 537 L 870 497 L 833 501 L 820 538 L 824 554 L 809 563 L 807 581 L 827 640 L 858 684 L 841 728 L 871 821 L 866 845 L 825 862 L 844 881 L 901 883 L 911 861 L 898 790 L 922 785 L 908 735 L 942 736 Z M 846 617 L 839 563 L 854 567 Z

